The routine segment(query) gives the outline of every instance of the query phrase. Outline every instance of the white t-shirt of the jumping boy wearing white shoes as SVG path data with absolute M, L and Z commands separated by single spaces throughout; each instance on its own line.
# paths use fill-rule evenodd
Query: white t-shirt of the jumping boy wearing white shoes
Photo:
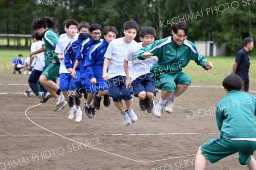
M 105 53 L 105 58 L 109 58 L 108 65 L 108 78 L 114 78 L 118 75 L 125 76 L 124 59 L 128 54 L 128 49 L 133 44 L 137 44 L 136 41 L 132 40 L 131 43 L 125 43 L 124 37 L 112 40 Z M 131 63 L 129 64 L 131 69 Z

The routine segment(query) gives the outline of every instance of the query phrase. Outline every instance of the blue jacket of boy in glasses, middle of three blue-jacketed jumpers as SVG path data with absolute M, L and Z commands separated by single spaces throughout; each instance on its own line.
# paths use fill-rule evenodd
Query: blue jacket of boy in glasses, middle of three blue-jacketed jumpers
M 76 59 L 79 59 L 81 62 L 80 78 L 87 78 L 87 73 L 85 72 L 85 69 L 82 66 L 84 65 L 84 61 L 85 61 L 85 58 L 87 57 L 87 53 L 90 50 L 90 47 L 101 42 L 102 42 L 102 39 L 99 39 L 96 41 L 91 38 L 87 38 L 80 44 L 79 46 L 80 50 L 76 52 Z

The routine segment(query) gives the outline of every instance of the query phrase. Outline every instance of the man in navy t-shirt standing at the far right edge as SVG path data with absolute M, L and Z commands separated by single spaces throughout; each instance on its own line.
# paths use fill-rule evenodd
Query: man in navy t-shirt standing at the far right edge
M 239 50 L 236 55 L 236 60 L 233 64 L 232 74 L 239 75 L 244 82 L 242 92 L 249 91 L 249 67 L 250 67 L 250 55 L 249 52 L 253 49 L 253 39 L 244 38 L 244 47 Z

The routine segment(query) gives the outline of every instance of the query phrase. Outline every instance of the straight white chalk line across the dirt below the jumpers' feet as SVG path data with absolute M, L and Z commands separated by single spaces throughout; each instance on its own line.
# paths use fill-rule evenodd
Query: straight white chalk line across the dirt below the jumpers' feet
M 131 133 L 131 134 L 64 134 L 64 136 L 140 136 L 140 135 L 219 135 L 220 133 Z M 9 134 L 0 136 L 55 136 L 53 134 Z

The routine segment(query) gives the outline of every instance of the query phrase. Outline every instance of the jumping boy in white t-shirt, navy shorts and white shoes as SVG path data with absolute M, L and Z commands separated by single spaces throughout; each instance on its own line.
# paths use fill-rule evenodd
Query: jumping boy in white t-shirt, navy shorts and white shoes
M 129 125 L 137 121 L 137 115 L 131 108 L 132 88 L 127 90 L 125 87 L 123 61 L 128 54 L 129 47 L 137 43 L 134 38 L 139 31 L 139 26 L 134 20 L 131 20 L 124 23 L 123 29 L 125 36 L 111 41 L 108 46 L 105 53 L 102 76 L 104 80 L 108 81 L 109 96 L 113 98 L 116 108 L 121 112 L 123 123 Z M 126 109 L 123 107 L 122 99 L 125 101 Z

